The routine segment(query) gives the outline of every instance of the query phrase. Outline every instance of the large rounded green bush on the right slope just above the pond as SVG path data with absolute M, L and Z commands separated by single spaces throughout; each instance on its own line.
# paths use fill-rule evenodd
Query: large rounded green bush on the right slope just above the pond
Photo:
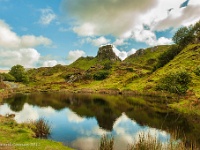
M 191 76 L 186 71 L 170 73 L 161 78 L 156 89 L 170 93 L 184 94 L 188 90 Z

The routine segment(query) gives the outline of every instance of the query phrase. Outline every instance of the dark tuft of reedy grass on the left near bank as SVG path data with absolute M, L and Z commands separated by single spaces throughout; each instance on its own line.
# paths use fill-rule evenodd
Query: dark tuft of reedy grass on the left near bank
M 51 127 L 44 118 L 34 121 L 32 130 L 35 133 L 36 138 L 47 138 L 51 133 Z

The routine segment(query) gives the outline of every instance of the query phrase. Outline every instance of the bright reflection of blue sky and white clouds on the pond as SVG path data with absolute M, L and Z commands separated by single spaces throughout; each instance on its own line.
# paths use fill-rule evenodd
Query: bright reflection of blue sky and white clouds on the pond
M 117 150 L 126 149 L 126 145 L 137 140 L 141 132 L 150 132 L 152 136 L 158 135 L 163 141 L 169 138 L 169 134 L 164 131 L 140 126 L 125 113 L 116 119 L 112 131 L 99 127 L 95 117 L 80 117 L 69 108 L 56 111 L 52 107 L 42 108 L 25 103 L 22 111 L 14 112 L 8 104 L 4 104 L 0 106 L 0 114 L 6 113 L 15 113 L 15 119 L 19 123 L 45 117 L 52 124 L 52 139 L 81 150 L 97 149 L 100 136 L 103 134 L 112 134 L 115 137 L 114 147 Z

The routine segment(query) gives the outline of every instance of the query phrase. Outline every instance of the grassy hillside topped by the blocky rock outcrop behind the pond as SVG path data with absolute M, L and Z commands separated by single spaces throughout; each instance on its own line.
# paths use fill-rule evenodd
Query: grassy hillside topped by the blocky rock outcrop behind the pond
M 99 48 L 96 57 L 81 57 L 69 66 L 43 67 L 29 70 L 28 73 L 32 85 L 51 83 L 52 86 L 52 83 L 66 82 L 80 89 L 129 89 L 127 86 L 151 73 L 157 57 L 168 47 L 156 46 L 138 50 L 124 61 L 120 61 L 112 46 L 107 45 Z M 105 77 L 94 79 L 98 74 L 105 74 Z

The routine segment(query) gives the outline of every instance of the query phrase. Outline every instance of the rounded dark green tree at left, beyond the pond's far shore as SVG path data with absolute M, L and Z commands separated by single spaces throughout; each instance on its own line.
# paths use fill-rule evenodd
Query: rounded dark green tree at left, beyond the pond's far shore
M 13 66 L 11 68 L 9 74 L 14 76 L 17 82 L 23 82 L 23 83 L 29 82 L 29 77 L 28 77 L 24 67 L 21 65 Z

